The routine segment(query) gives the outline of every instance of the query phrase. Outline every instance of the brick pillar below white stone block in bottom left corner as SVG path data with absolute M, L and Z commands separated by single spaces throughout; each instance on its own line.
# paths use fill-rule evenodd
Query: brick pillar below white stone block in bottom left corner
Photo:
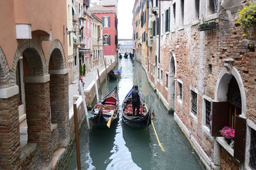
M 0 99 L 0 169 L 20 169 L 18 96 Z

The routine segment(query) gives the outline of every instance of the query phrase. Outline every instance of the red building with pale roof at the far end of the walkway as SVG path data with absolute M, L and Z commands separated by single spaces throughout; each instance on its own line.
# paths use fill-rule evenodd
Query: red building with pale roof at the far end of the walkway
M 111 60 L 112 62 L 116 61 L 118 57 L 116 49 L 118 43 L 116 6 L 117 4 L 111 4 L 105 7 L 91 3 L 88 10 L 102 20 L 103 56 L 106 57 L 107 63 Z

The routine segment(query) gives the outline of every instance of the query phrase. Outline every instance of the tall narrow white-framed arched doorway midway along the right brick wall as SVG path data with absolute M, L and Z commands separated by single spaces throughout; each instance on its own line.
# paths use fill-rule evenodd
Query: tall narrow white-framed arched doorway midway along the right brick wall
M 175 111 L 175 76 L 176 76 L 176 64 L 175 64 L 175 55 L 170 51 L 170 65 L 169 65 L 169 83 L 168 83 L 168 103 L 169 110 Z

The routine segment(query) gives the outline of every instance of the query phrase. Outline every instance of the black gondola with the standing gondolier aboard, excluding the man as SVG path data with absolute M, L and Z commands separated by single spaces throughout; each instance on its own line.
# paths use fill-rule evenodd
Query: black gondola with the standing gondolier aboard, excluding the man
M 140 104 L 140 114 L 132 115 L 131 94 L 134 89 L 132 88 L 122 104 L 122 119 L 132 129 L 143 129 L 151 124 L 151 109 L 147 111 L 144 104 Z M 136 113 L 136 111 L 135 111 Z

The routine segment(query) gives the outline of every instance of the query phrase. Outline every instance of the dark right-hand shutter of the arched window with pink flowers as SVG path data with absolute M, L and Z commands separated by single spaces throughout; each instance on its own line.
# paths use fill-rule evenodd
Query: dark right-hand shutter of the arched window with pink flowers
M 245 138 L 246 138 L 246 119 L 236 116 L 235 127 L 235 148 L 234 158 L 239 162 L 244 162 Z

